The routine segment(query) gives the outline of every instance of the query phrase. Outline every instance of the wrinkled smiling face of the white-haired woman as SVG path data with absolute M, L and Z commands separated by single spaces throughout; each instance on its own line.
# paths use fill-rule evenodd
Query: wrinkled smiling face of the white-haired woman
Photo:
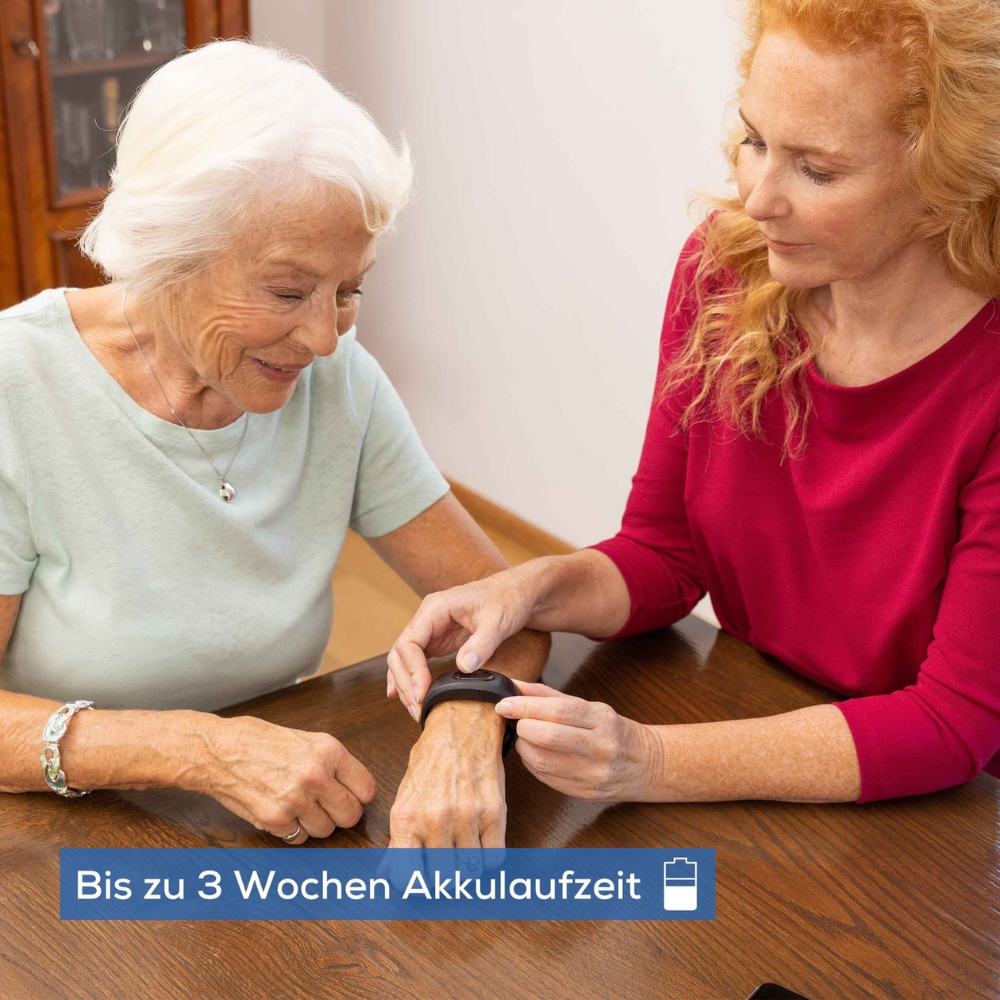
M 374 263 L 375 239 L 348 197 L 269 206 L 245 254 L 209 268 L 176 297 L 174 337 L 202 382 L 241 410 L 271 412 L 291 398 L 302 369 L 332 354 L 354 325 Z

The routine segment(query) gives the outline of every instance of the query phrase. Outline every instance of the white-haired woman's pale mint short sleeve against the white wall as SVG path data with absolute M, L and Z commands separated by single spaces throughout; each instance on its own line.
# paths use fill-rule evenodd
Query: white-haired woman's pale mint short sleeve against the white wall
M 376 538 L 413 520 L 449 487 L 385 372 L 356 341 L 346 369 L 362 434 L 350 525 Z

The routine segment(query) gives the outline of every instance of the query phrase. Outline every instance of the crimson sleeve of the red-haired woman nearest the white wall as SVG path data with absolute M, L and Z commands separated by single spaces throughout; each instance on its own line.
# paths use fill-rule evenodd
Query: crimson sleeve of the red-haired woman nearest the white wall
M 631 601 L 628 620 L 608 639 L 665 628 L 689 614 L 706 593 L 684 502 L 687 437 L 677 426 L 684 401 L 680 393 L 661 399 L 659 391 L 664 369 L 683 346 L 694 319 L 691 292 L 704 225 L 688 237 L 671 282 L 660 334 L 657 388 L 621 530 L 589 546 L 614 562 Z

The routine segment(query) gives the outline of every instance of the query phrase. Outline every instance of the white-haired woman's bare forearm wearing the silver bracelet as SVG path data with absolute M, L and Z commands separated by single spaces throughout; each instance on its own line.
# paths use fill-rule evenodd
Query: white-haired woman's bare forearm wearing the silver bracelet
M 61 702 L 0 692 L 0 791 L 46 791 L 42 730 Z M 224 720 L 207 712 L 78 712 L 59 741 L 71 788 L 198 790 L 210 737 Z

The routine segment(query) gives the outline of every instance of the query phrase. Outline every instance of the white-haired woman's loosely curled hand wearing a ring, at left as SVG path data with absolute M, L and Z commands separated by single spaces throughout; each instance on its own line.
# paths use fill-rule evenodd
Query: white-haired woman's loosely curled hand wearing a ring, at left
M 378 786 L 371 772 L 328 733 L 286 729 L 263 719 L 220 719 L 200 791 L 289 843 L 354 826 Z

